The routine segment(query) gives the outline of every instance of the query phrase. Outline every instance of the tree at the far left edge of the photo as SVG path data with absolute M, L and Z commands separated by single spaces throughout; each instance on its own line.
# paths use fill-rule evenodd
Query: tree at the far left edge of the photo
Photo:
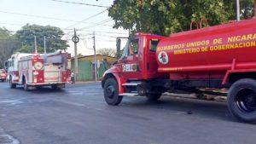
M 3 68 L 4 61 L 8 60 L 10 55 L 16 49 L 20 48 L 20 42 L 5 27 L 0 27 L 0 68 Z

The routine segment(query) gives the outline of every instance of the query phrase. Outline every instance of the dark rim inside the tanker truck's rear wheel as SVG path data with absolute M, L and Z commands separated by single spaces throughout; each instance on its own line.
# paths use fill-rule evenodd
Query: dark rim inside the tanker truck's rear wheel
M 241 112 L 256 112 L 256 93 L 253 89 L 241 89 L 236 95 L 236 106 Z

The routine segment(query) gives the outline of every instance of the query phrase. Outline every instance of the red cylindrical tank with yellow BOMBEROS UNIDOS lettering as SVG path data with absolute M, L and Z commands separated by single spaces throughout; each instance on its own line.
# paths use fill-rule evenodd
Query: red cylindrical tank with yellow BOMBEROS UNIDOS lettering
M 172 34 L 158 44 L 156 59 L 158 72 L 176 74 L 256 68 L 256 20 Z

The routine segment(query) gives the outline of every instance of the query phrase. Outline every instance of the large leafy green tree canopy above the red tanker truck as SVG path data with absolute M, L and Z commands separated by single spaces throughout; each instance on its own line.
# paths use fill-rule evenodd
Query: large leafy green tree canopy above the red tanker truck
M 108 15 L 114 28 L 169 35 L 189 30 L 191 20 L 207 18 L 209 25 L 236 19 L 234 0 L 114 0 Z M 253 0 L 241 0 L 241 18 L 253 15 Z

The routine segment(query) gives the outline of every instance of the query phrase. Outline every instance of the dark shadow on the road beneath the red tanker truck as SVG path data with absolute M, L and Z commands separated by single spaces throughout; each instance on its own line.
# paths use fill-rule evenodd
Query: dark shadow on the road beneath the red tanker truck
M 147 101 L 146 98 L 125 97 L 120 107 L 152 109 L 166 114 L 200 116 L 215 120 L 236 121 L 230 115 L 226 102 L 203 101 L 188 98 L 163 96 L 159 101 Z

